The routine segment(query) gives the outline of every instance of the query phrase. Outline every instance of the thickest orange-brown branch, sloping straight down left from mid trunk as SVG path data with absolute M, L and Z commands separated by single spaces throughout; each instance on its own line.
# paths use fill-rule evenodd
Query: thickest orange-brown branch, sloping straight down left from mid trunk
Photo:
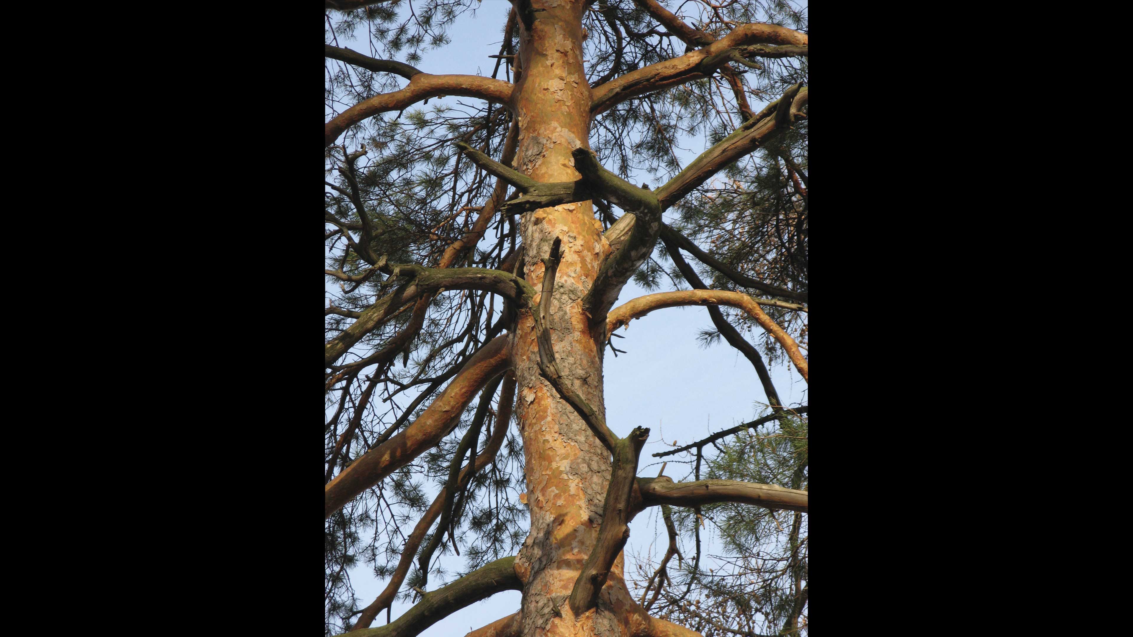
M 342 470 L 325 487 L 325 515 L 341 509 L 359 493 L 374 486 L 391 473 L 431 449 L 449 434 L 460 421 L 460 414 L 476 392 L 508 368 L 508 345 L 496 337 L 477 351 L 452 383 L 411 425 L 367 451 Z

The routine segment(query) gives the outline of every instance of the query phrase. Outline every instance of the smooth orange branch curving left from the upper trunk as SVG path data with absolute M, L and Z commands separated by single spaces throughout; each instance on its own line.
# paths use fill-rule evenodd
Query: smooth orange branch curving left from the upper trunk
M 342 111 L 324 127 L 324 143 L 330 146 L 347 128 L 359 121 L 387 111 L 397 111 L 441 95 L 479 97 L 489 102 L 506 104 L 511 101 L 514 85 L 502 79 L 478 75 L 431 75 L 421 73 L 409 79 L 409 85 L 400 91 L 374 95 Z

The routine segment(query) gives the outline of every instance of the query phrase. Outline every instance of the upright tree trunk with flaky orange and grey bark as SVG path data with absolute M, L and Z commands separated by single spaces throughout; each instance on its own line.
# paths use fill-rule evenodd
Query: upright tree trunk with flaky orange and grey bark
M 520 12 L 521 74 L 513 93 L 520 137 L 516 168 L 538 181 L 580 177 L 571 151 L 589 148 L 590 86 L 582 68 L 582 0 L 539 0 Z M 525 10 L 528 9 L 528 10 Z M 542 9 L 542 10 L 539 10 Z M 525 15 L 526 14 L 526 15 Z M 562 241 L 548 316 L 555 356 L 564 380 L 596 410 L 605 413 L 602 357 L 605 321 L 582 312 L 610 244 L 594 218 L 590 202 L 540 209 L 523 214 L 523 274 L 540 289 L 540 260 L 552 241 Z M 610 452 L 586 423 L 539 376 L 534 321 L 522 314 L 513 336 L 519 387 L 520 432 L 526 457 L 530 535 L 516 560 L 523 581 L 522 635 L 534 637 L 604 635 L 628 637 L 644 625 L 623 579 L 623 557 L 614 563 L 598 608 L 574 618 L 570 597 L 574 580 L 595 544 L 611 477 Z M 619 424 L 624 430 L 628 424 Z M 648 620 L 645 620 L 648 621 Z

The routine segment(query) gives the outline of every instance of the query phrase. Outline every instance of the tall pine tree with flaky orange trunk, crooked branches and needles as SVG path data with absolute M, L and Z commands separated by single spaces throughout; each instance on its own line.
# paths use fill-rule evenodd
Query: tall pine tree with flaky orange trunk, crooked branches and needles
M 471 635 L 806 634 L 807 408 L 767 371 L 808 379 L 806 9 L 513 0 L 485 77 L 415 65 L 492 7 L 325 7 L 326 634 L 418 635 L 505 589 L 522 609 Z M 614 307 L 631 279 L 670 291 Z M 649 430 L 605 422 L 603 358 L 687 305 L 766 415 L 655 453 L 691 479 L 638 477 Z M 625 575 L 651 507 L 671 550 Z M 389 580 L 365 606 L 358 563 Z

